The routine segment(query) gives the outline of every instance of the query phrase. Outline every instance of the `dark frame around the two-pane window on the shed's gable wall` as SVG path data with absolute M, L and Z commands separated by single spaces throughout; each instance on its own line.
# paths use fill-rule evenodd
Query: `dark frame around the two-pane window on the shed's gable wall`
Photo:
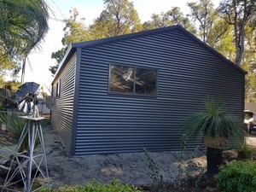
M 120 92 L 120 91 L 113 91 L 110 90 L 110 82 L 111 82 L 111 67 L 112 66 L 119 66 L 119 67 L 133 67 L 134 68 L 134 74 L 133 77 L 136 78 L 137 68 L 140 69 L 147 69 L 155 71 L 155 94 L 144 94 L 144 93 L 136 93 L 135 83 L 133 83 L 133 91 L 131 92 Z M 114 95 L 122 95 L 122 96 L 149 96 L 149 97 L 157 97 L 158 96 L 158 77 L 159 77 L 159 69 L 156 69 L 154 67 L 138 67 L 136 65 L 129 65 L 129 64 L 119 64 L 119 63 L 110 63 L 108 67 L 108 94 L 114 94 Z

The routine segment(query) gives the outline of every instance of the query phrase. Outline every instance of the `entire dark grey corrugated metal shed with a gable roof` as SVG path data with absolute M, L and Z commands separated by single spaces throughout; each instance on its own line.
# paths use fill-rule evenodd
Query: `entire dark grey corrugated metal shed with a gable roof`
M 51 123 L 71 155 L 178 151 L 183 119 L 207 96 L 242 122 L 245 74 L 181 26 L 71 44 Z

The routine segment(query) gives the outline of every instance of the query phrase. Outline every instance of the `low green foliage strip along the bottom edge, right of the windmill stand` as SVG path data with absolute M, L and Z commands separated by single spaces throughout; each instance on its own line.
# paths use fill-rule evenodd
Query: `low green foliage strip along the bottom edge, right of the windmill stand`
M 41 189 L 39 190 L 49 191 L 49 189 Z M 136 187 L 131 184 L 120 184 L 119 179 L 114 179 L 111 183 L 99 183 L 96 181 L 92 181 L 87 183 L 84 186 L 75 186 L 75 187 L 66 187 L 65 189 L 53 189 L 52 192 L 141 192 Z

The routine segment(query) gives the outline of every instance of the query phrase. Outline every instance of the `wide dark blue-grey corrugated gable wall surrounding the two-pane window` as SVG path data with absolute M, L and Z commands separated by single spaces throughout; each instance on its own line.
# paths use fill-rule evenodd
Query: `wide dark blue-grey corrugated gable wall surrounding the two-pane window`
M 244 74 L 225 62 L 180 30 L 82 48 L 74 154 L 178 151 L 183 119 L 207 96 L 241 121 Z M 158 69 L 158 96 L 108 93 L 111 63 Z

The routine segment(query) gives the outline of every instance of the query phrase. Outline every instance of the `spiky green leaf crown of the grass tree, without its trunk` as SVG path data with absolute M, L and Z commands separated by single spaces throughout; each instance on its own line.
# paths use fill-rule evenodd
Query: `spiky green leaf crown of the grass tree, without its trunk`
M 237 131 L 236 119 L 226 113 L 214 98 L 205 101 L 204 110 L 193 113 L 185 120 L 183 128 L 188 137 L 230 137 Z

